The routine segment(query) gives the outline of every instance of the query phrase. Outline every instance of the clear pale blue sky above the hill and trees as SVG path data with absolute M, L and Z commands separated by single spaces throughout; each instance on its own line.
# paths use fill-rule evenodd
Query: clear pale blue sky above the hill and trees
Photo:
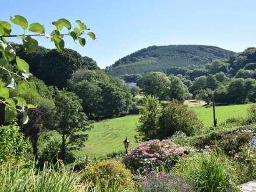
M 0 6 L 0 20 L 22 15 L 29 23 L 44 24 L 48 33 L 54 20 L 73 25 L 81 20 L 97 40 L 85 36 L 87 44 L 80 47 L 66 37 L 65 47 L 93 58 L 102 69 L 151 45 L 215 45 L 236 52 L 256 47 L 255 0 L 8 0 Z M 54 48 L 44 37 L 39 44 Z

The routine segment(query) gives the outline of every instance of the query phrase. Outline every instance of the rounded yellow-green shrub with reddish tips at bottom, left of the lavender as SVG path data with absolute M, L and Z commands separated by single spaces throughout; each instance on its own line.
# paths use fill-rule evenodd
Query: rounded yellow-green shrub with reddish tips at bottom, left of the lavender
M 84 180 L 98 183 L 104 187 L 105 184 L 111 186 L 121 186 L 123 189 L 133 187 L 133 176 L 125 165 L 115 160 L 102 160 L 86 167 L 83 175 Z

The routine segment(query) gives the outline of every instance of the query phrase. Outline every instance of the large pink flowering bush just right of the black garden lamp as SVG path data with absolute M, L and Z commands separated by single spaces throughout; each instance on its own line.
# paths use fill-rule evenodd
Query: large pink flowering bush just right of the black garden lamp
M 131 170 L 145 171 L 161 165 L 173 166 L 179 157 L 188 153 L 170 140 L 150 140 L 129 151 L 124 162 Z

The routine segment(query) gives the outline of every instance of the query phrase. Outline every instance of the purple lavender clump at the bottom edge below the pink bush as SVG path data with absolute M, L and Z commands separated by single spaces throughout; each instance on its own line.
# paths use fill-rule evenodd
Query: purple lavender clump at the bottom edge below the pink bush
M 172 172 L 155 172 L 152 171 L 145 175 L 145 180 L 138 183 L 138 191 L 142 192 L 159 192 L 159 191 L 193 191 L 191 184 L 185 179 L 175 176 Z

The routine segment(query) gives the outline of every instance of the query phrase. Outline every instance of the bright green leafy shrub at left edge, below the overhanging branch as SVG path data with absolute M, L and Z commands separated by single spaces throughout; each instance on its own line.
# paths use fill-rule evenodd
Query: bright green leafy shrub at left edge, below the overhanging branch
M 28 141 L 19 132 L 19 127 L 15 123 L 0 126 L 0 163 L 24 159 L 27 144 Z

